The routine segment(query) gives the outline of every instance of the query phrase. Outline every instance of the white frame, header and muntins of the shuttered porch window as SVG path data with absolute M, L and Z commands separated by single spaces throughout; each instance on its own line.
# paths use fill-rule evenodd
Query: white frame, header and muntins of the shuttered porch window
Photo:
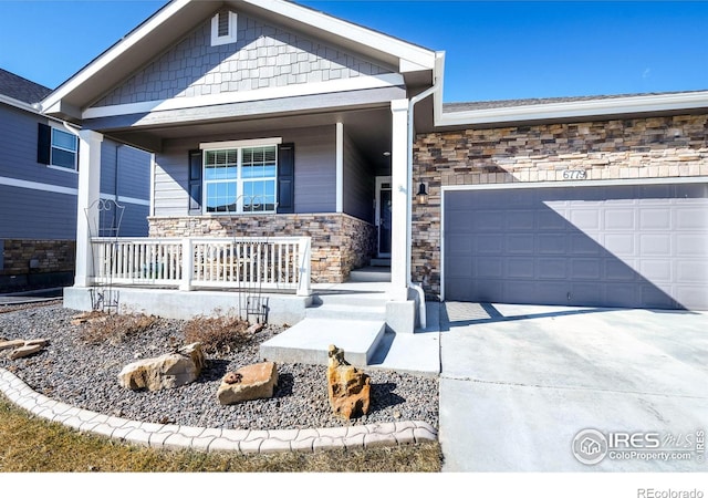
M 248 139 L 248 141 L 229 141 L 229 142 L 210 142 L 205 144 L 199 144 L 199 148 L 202 151 L 201 158 L 201 212 L 204 215 L 210 216 L 233 216 L 233 215 L 268 215 L 274 214 L 278 210 L 278 145 L 282 144 L 282 137 L 274 138 L 258 138 L 258 139 Z M 243 168 L 243 149 L 250 147 L 275 147 L 275 175 L 273 177 L 266 178 L 242 178 L 241 172 Z M 216 180 L 207 180 L 207 155 L 204 154 L 206 152 L 214 151 L 237 151 L 237 168 L 236 168 L 236 178 L 233 179 L 216 179 Z M 274 209 L 269 210 L 258 210 L 258 211 L 244 211 L 243 210 L 243 184 L 252 183 L 252 181 L 263 181 L 263 180 L 273 180 L 274 184 Z M 218 183 L 236 183 L 236 211 L 209 211 L 207 204 L 207 185 L 209 184 L 218 184 Z

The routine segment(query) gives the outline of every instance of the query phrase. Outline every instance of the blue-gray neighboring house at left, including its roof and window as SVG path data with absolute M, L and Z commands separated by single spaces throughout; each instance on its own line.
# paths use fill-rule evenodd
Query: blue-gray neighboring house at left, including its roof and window
M 0 70 L 0 291 L 69 286 L 74 279 L 77 147 L 75 128 L 34 104 L 50 89 Z M 121 234 L 146 235 L 149 155 L 103 145 L 101 197 L 125 207 Z M 119 172 L 132 170 L 128 178 Z

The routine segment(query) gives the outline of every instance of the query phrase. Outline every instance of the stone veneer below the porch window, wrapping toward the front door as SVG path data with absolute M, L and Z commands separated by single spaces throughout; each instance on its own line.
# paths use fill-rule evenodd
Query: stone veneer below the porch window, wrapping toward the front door
M 368 264 L 373 225 L 348 215 L 149 217 L 150 237 L 312 237 L 312 282 L 341 283 Z

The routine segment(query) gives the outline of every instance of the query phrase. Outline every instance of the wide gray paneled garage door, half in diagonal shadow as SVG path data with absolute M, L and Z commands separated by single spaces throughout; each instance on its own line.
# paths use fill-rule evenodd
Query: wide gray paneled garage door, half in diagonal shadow
M 708 185 L 445 193 L 445 299 L 708 309 Z

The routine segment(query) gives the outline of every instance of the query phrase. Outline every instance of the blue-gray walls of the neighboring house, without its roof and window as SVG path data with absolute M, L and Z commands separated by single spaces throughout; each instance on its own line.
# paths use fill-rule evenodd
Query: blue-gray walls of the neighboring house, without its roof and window
M 75 268 L 75 170 L 38 163 L 39 124 L 66 131 L 39 114 L 0 104 L 0 291 L 69 286 Z M 115 149 L 105 141 L 102 197 L 115 195 Z M 121 146 L 118 194 L 128 197 L 122 234 L 146 236 L 149 154 Z M 122 199 L 125 200 L 125 199 Z

